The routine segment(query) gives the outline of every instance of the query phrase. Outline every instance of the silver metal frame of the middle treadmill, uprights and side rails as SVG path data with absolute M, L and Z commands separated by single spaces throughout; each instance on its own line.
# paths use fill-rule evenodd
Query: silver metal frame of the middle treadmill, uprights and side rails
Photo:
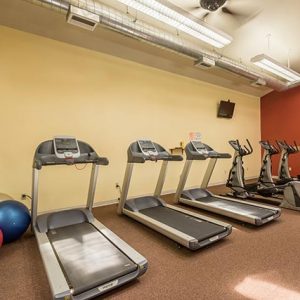
M 224 236 L 227 236 L 228 234 L 230 234 L 232 227 L 230 224 L 224 223 L 222 221 L 218 221 L 215 220 L 213 218 L 209 218 L 197 213 L 193 213 L 191 211 L 176 207 L 174 205 L 169 205 L 169 204 L 164 204 L 164 207 L 167 207 L 169 209 L 173 209 L 175 211 L 184 213 L 186 215 L 189 215 L 191 217 L 195 217 L 204 221 L 208 221 L 220 226 L 223 226 L 225 228 L 227 228 L 227 230 L 229 231 L 229 233 L 227 231 L 225 231 L 224 233 L 221 233 L 219 235 L 216 235 L 212 238 L 208 238 L 206 240 L 203 240 L 201 242 L 199 242 L 197 239 L 195 239 L 192 236 L 189 236 L 188 234 L 185 234 L 179 230 L 176 230 L 168 225 L 165 225 L 162 222 L 156 221 L 153 218 L 150 218 L 148 216 L 145 216 L 144 214 L 140 213 L 140 212 L 132 212 L 128 209 L 126 209 L 125 203 L 127 200 L 127 196 L 128 196 L 128 191 L 129 191 L 129 185 L 130 185 L 130 181 L 131 181 L 131 177 L 132 177 L 132 172 L 133 172 L 133 166 L 134 163 L 127 163 L 126 166 L 126 171 L 125 171 L 125 176 L 124 176 L 124 181 L 123 181 L 123 185 L 122 185 L 122 192 L 121 192 L 121 197 L 120 197 L 120 202 L 119 202 L 119 206 L 118 206 L 118 213 L 119 214 L 125 214 L 133 219 L 135 219 L 136 221 L 154 229 L 155 231 L 158 231 L 159 233 L 167 236 L 168 238 L 174 240 L 175 242 L 177 242 L 178 244 L 181 244 L 189 249 L 192 250 L 197 250 L 199 248 L 202 248 L 208 244 L 211 244 L 213 242 L 218 241 L 219 239 L 222 239 Z M 167 172 L 167 167 L 168 167 L 168 161 L 164 160 L 160 169 L 160 173 L 159 173 L 159 177 L 158 177 L 158 181 L 156 184 L 156 188 L 154 191 L 153 196 L 157 197 L 158 199 L 160 199 L 161 193 L 162 193 L 162 189 L 164 186 L 164 182 L 165 182 L 165 178 L 166 178 L 166 172 Z

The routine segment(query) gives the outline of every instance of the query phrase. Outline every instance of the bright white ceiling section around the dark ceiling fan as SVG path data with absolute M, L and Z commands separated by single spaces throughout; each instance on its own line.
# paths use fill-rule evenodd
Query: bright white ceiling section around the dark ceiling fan
M 198 6 L 199 0 L 170 2 L 197 17 L 205 12 L 203 9 L 191 10 Z M 285 65 L 290 58 L 291 67 L 300 72 L 299 0 L 230 0 L 225 6 L 238 13 L 250 14 L 240 21 L 216 11 L 206 19 L 207 23 L 234 38 L 232 44 L 223 50 L 224 55 L 249 63 L 251 57 L 266 53 Z

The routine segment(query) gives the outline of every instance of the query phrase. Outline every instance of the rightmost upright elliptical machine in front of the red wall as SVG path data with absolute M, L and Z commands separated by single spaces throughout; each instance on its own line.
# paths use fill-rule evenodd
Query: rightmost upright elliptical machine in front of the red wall
M 288 182 L 297 180 L 293 178 L 289 170 L 289 155 L 299 152 L 299 147 L 294 141 L 294 145 L 288 144 L 286 141 L 276 141 L 278 147 L 281 150 L 279 167 L 278 167 L 278 180 L 276 184 L 286 184 Z

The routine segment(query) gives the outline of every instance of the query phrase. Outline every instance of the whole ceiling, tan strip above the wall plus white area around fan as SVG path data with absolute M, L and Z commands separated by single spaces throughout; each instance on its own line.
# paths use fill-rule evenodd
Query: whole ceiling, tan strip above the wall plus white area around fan
M 109 3 L 111 6 L 126 11 L 124 5 L 120 5 L 116 0 L 100 2 Z M 199 3 L 198 0 L 170 0 L 170 2 L 187 11 L 191 11 L 191 8 L 197 7 Z M 298 56 L 300 43 L 297 36 L 300 27 L 299 0 L 285 0 L 284 4 L 278 0 L 230 0 L 226 5 L 236 12 L 251 13 L 248 18 L 236 20 L 217 11 L 205 20 L 234 38 L 231 45 L 218 50 L 219 52 L 245 64 L 250 64 L 251 57 L 263 52 L 284 64 L 287 64 L 288 57 L 290 57 L 291 67 L 300 72 L 300 57 Z M 195 9 L 192 13 L 196 17 L 201 17 L 203 10 Z M 161 24 L 140 14 L 138 17 L 161 27 Z M 104 28 L 97 28 L 95 32 L 82 30 L 67 24 L 63 15 L 24 0 L 1 0 L 0 24 L 255 96 L 262 96 L 270 91 L 267 88 L 254 88 L 249 85 L 248 80 L 227 71 L 199 70 L 193 67 L 192 62 L 186 58 Z M 267 36 L 270 36 L 269 47 Z M 207 45 L 205 47 L 212 49 Z

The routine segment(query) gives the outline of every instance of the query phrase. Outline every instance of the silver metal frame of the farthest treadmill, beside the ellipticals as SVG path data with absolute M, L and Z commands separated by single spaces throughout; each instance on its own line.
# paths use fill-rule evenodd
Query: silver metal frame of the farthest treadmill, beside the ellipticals
M 203 180 L 202 180 L 202 183 L 201 183 L 201 186 L 200 186 L 201 189 L 206 189 L 208 187 L 208 183 L 211 179 L 211 176 L 212 176 L 213 170 L 215 168 L 215 165 L 217 163 L 217 160 L 218 160 L 218 158 L 210 158 L 208 167 L 206 169 L 206 172 L 204 174 L 204 177 L 203 177 Z M 224 199 L 224 200 L 227 200 L 227 201 L 231 201 L 231 202 L 235 202 L 235 203 L 242 203 L 242 204 L 246 204 L 246 205 L 248 204 L 248 205 L 252 205 L 252 206 L 256 206 L 256 207 L 260 207 L 260 208 L 266 208 L 266 209 L 274 210 L 276 212 L 276 214 L 274 216 L 268 217 L 266 219 L 258 219 L 258 218 L 255 218 L 254 216 L 242 215 L 242 214 L 235 213 L 235 212 L 232 212 L 232 211 L 226 211 L 226 210 L 218 209 L 218 208 L 216 208 L 216 207 L 214 207 L 210 204 L 207 204 L 207 203 L 204 203 L 204 202 L 201 202 L 201 201 L 188 200 L 188 199 L 182 198 L 181 194 L 184 191 L 184 187 L 185 187 L 188 175 L 190 173 L 192 163 L 193 163 L 193 160 L 188 160 L 187 159 L 185 161 L 183 171 L 181 173 L 179 184 L 178 184 L 176 194 L 175 194 L 176 202 L 183 203 L 183 204 L 193 206 L 193 207 L 196 207 L 196 208 L 200 208 L 200 209 L 203 209 L 203 210 L 207 210 L 207 211 L 210 211 L 210 212 L 213 212 L 213 213 L 216 213 L 216 214 L 224 215 L 224 216 L 236 219 L 236 220 L 240 220 L 242 222 L 254 224 L 256 226 L 260 226 L 260 225 L 263 225 L 265 223 L 268 223 L 268 222 L 270 222 L 274 219 L 279 218 L 279 216 L 281 215 L 281 209 L 278 208 L 278 207 L 273 207 L 273 206 L 263 205 L 263 204 L 259 204 L 259 203 L 254 203 L 252 201 L 251 202 L 250 201 L 245 202 L 244 200 L 232 199 L 232 198 L 227 198 L 227 197 L 223 197 L 223 196 L 215 196 L 214 195 L 214 197 L 216 197 L 216 198 Z

